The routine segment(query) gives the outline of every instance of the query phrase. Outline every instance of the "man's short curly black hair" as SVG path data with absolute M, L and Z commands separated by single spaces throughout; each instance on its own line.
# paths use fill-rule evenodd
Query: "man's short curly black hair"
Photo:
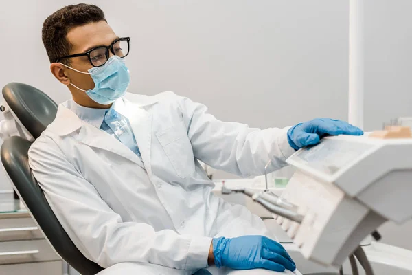
M 42 40 L 50 63 L 58 58 L 69 55 L 72 45 L 67 40 L 67 33 L 87 23 L 106 21 L 104 12 L 96 5 L 67 5 L 47 17 L 43 23 Z M 62 61 L 69 64 L 69 61 Z

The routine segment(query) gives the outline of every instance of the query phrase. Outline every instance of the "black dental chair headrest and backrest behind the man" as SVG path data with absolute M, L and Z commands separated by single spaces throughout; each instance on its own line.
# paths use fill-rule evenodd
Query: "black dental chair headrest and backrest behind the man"
M 2 138 L 12 133 L 17 135 L 5 139 L 0 155 L 14 190 L 62 259 L 82 275 L 97 274 L 103 268 L 89 261 L 73 244 L 47 203 L 28 164 L 30 145 L 56 117 L 57 104 L 39 89 L 23 83 L 5 85 L 3 98 L 5 102 L 1 104 L 0 111 L 6 120 L 0 125 Z

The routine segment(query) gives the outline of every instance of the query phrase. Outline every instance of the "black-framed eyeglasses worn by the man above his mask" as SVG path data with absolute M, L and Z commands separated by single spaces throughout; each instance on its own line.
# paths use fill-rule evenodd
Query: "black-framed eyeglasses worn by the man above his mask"
M 72 58 L 72 57 L 79 57 L 79 56 L 87 56 L 89 61 L 93 67 L 100 67 L 106 64 L 108 61 L 108 51 L 111 51 L 112 54 L 115 56 L 119 56 L 124 58 L 128 55 L 130 50 L 130 37 L 122 37 L 120 39 L 116 39 L 111 43 L 110 46 L 99 46 L 94 47 L 87 52 L 82 54 L 71 54 L 69 56 L 62 56 L 58 58 L 56 63 L 59 63 L 64 58 Z

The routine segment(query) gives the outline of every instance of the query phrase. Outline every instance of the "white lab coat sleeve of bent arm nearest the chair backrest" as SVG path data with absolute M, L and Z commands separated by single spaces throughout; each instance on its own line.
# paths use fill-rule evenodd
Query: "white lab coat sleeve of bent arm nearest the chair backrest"
M 39 137 L 30 148 L 29 164 L 54 214 L 87 259 L 102 267 L 122 262 L 181 270 L 207 266 L 211 238 L 155 232 L 146 223 L 122 221 L 53 140 Z

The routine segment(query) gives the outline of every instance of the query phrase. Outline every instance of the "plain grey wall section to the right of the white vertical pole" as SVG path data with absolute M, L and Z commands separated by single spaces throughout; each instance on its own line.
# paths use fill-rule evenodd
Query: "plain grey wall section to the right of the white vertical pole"
M 365 5 L 365 127 L 412 116 L 412 1 Z

